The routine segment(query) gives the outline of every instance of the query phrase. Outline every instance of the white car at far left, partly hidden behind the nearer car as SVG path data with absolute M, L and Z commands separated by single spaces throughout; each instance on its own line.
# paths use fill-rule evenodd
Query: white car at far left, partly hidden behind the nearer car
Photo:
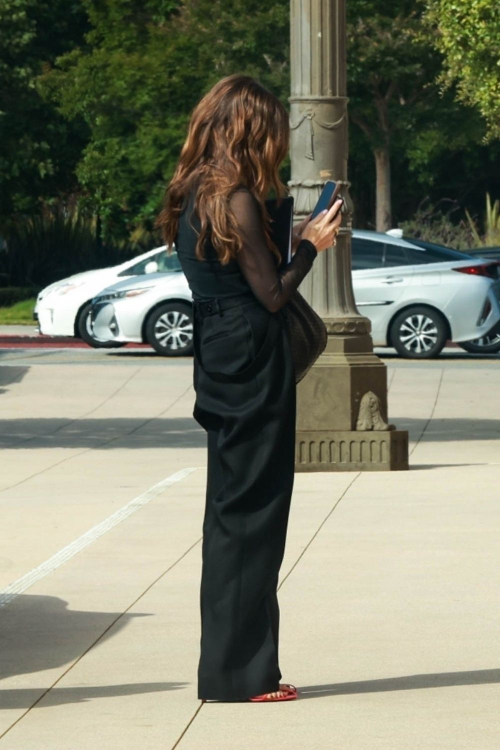
M 69 276 L 42 289 L 38 295 L 33 317 L 40 333 L 47 336 L 76 336 L 92 346 L 104 346 L 89 328 L 91 300 L 101 289 L 131 276 L 179 268 L 177 257 L 168 256 L 165 247 L 149 250 L 136 258 L 111 268 L 99 268 Z M 109 346 L 121 345 L 108 342 Z

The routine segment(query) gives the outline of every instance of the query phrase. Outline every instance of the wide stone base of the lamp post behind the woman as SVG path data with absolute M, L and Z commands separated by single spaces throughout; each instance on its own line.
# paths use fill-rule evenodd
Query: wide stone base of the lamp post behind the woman
M 295 447 L 296 471 L 408 469 L 408 432 L 387 422 L 387 368 L 369 334 L 329 332 L 297 386 Z

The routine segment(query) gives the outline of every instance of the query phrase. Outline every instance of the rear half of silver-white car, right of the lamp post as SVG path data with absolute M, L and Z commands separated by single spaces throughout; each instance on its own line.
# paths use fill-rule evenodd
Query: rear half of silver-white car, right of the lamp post
M 356 231 L 356 304 L 375 346 L 436 357 L 447 340 L 478 339 L 500 320 L 500 265 L 421 240 Z

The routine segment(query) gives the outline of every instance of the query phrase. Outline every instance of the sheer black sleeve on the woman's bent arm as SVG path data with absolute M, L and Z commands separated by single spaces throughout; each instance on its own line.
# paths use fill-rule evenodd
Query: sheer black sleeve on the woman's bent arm
M 260 206 L 249 190 L 238 189 L 229 199 L 238 222 L 243 248 L 236 260 L 253 293 L 270 312 L 288 301 L 311 270 L 317 250 L 309 240 L 301 240 L 290 263 L 281 271 L 266 243 Z

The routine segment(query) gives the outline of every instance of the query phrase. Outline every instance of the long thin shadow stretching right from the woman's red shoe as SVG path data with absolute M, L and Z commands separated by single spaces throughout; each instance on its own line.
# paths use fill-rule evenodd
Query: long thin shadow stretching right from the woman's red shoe
M 388 693 L 394 690 L 428 690 L 460 685 L 492 685 L 500 682 L 500 669 L 478 669 L 470 672 L 437 672 L 386 677 L 380 680 L 338 682 L 331 685 L 299 686 L 300 700 L 357 693 Z

